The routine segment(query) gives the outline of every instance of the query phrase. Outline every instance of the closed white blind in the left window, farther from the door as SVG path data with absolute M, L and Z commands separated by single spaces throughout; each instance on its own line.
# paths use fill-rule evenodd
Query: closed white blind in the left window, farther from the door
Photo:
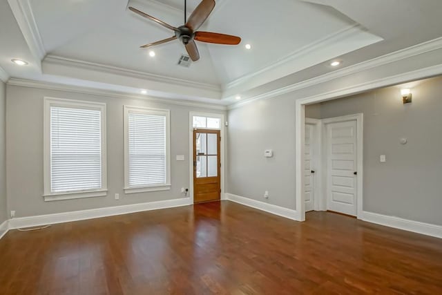
M 102 112 L 50 106 L 50 192 L 102 189 Z

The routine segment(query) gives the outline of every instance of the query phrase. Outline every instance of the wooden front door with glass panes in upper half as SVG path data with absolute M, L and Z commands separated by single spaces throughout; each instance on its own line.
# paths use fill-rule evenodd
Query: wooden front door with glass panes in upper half
M 221 199 L 219 130 L 193 130 L 193 202 Z

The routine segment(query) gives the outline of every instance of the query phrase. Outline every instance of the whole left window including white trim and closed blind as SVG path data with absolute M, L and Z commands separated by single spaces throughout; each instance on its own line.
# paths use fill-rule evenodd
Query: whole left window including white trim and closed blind
M 106 105 L 45 98 L 44 198 L 106 196 Z

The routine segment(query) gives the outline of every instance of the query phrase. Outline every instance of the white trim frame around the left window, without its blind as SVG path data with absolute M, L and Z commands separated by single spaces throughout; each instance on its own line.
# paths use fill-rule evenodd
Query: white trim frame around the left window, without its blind
M 102 120 L 102 187 L 94 190 L 84 191 L 66 191 L 60 193 L 52 193 L 50 191 L 50 107 L 61 106 L 70 108 L 86 108 L 99 110 Z M 100 102 L 88 102 L 84 100 L 64 99 L 56 97 L 44 97 L 44 193 L 43 197 L 46 202 L 57 200 L 70 200 L 79 198 L 93 198 L 107 195 L 107 144 L 106 144 L 106 104 Z

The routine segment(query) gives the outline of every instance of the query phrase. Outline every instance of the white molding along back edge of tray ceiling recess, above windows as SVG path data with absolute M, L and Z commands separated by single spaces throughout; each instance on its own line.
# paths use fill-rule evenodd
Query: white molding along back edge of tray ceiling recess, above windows
M 68 66 L 75 68 L 83 68 L 86 70 L 95 70 L 104 73 L 123 75 L 126 77 L 133 77 L 138 79 L 146 79 L 154 82 L 162 82 L 166 84 L 175 84 L 179 86 L 187 86 L 193 88 L 199 88 L 209 91 L 221 91 L 220 86 L 213 84 L 206 84 L 201 82 L 194 82 L 185 79 L 178 79 L 173 77 L 166 77 L 162 75 L 155 75 L 151 73 L 145 73 L 138 70 L 129 70 L 127 68 L 119 68 L 117 66 L 107 66 L 105 64 L 97 64 L 90 61 L 82 61 L 79 59 L 70 59 L 67 57 L 59 57 L 56 55 L 48 55 L 43 61 L 47 64 L 60 65 L 60 66 Z

